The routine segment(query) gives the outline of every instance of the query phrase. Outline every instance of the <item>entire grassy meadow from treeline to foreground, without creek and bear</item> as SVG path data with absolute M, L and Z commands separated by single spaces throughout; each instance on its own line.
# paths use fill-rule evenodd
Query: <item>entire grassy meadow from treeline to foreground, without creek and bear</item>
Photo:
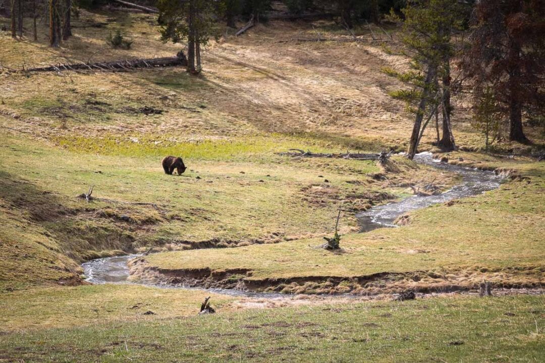
M 355 213 L 460 178 L 399 155 L 383 167 L 277 152 L 405 151 L 413 116 L 380 69 L 406 59 L 378 45 L 293 41 L 350 36 L 331 21 L 270 21 L 212 42 L 198 77 L 10 71 L 181 47 L 160 41 L 152 15 L 81 10 L 73 22 L 54 50 L 45 36 L 0 32 L 0 362 L 542 360 L 545 167 L 530 157 L 545 144 L 541 128 L 525 126 L 532 144 L 485 153 L 468 100 L 456 99 L 460 150 L 438 156 L 508 175 L 501 187 L 358 233 Z M 130 50 L 106 46 L 118 27 Z M 439 152 L 434 138 L 428 127 L 420 151 Z M 183 175 L 164 174 L 167 155 L 183 157 Z M 79 196 L 90 186 L 88 203 Z M 340 206 L 342 250 L 316 248 Z M 133 282 L 291 294 L 84 283 L 82 262 L 127 253 L 147 253 Z M 217 278 L 191 278 L 202 272 Z M 483 279 L 531 294 L 480 298 Z M 406 290 L 473 293 L 392 301 Z M 207 296 L 217 313 L 197 316 Z

